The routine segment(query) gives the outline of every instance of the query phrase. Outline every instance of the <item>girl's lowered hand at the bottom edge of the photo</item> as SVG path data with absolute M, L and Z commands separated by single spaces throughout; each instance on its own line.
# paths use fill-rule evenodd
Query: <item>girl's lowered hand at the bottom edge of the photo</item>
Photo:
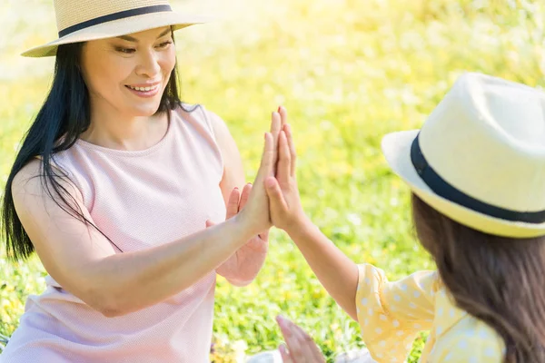
M 276 321 L 282 330 L 286 345 L 280 346 L 280 354 L 284 363 L 322 363 L 325 358 L 314 340 L 292 321 L 276 317 Z

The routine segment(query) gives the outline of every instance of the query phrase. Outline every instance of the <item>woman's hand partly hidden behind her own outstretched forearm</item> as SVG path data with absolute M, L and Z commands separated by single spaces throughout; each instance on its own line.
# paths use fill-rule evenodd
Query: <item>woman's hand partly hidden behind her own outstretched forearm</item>
M 225 219 L 228 220 L 238 214 L 246 205 L 252 184 L 248 183 L 243 188 L 243 193 L 238 188 L 234 188 L 227 201 L 227 213 Z M 213 226 L 213 221 L 206 221 L 206 228 Z M 255 276 L 263 266 L 265 255 L 269 249 L 269 230 L 260 232 L 248 240 L 234 255 L 223 262 L 217 272 L 227 280 L 237 285 L 245 285 L 255 279 Z

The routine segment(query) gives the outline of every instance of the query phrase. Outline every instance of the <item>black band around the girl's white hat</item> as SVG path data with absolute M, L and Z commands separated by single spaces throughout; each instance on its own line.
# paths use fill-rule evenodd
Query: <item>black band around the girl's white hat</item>
M 437 174 L 431 168 L 430 164 L 421 152 L 419 135 L 414 138 L 411 145 L 411 162 L 416 169 L 416 172 L 437 195 L 440 197 L 452 201 L 456 204 L 460 204 L 462 207 L 469 208 L 472 211 L 478 211 L 482 214 L 489 215 L 490 217 L 500 218 L 505 221 L 521 221 L 526 223 L 542 223 L 545 221 L 545 211 L 512 211 L 506 210 L 500 207 L 493 206 L 483 201 L 478 201 L 473 197 L 467 195 L 463 191 L 460 191 L 453 187 L 449 182 Z

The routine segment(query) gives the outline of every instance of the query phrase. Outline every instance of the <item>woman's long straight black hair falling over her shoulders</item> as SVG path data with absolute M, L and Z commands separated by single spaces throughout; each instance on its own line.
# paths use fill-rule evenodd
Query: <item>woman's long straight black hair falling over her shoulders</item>
M 83 43 L 76 43 L 58 47 L 51 90 L 34 123 L 25 134 L 25 140 L 17 152 L 14 166 L 5 183 L 1 227 L 9 260 L 25 260 L 35 250 L 15 212 L 12 183 L 17 172 L 36 156 L 41 157 L 39 177 L 47 194 L 64 211 L 100 231 L 84 217 L 82 211 L 77 208 L 74 197 L 59 182 L 59 179 L 67 178 L 67 174 L 59 168 L 52 167 L 53 155 L 74 145 L 91 122 L 89 92 L 80 66 L 83 46 Z M 174 66 L 157 113 L 183 107 L 178 90 L 178 76 Z M 104 237 L 108 238 L 105 235 Z M 112 240 L 110 242 L 114 244 Z M 114 246 L 117 248 L 115 244 Z

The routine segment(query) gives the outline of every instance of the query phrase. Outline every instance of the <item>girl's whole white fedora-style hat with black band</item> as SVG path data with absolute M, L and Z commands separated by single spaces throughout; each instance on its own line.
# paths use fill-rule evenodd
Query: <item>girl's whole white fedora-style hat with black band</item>
M 462 74 L 421 130 L 382 139 L 394 172 L 423 201 L 490 234 L 545 235 L 545 93 Z

